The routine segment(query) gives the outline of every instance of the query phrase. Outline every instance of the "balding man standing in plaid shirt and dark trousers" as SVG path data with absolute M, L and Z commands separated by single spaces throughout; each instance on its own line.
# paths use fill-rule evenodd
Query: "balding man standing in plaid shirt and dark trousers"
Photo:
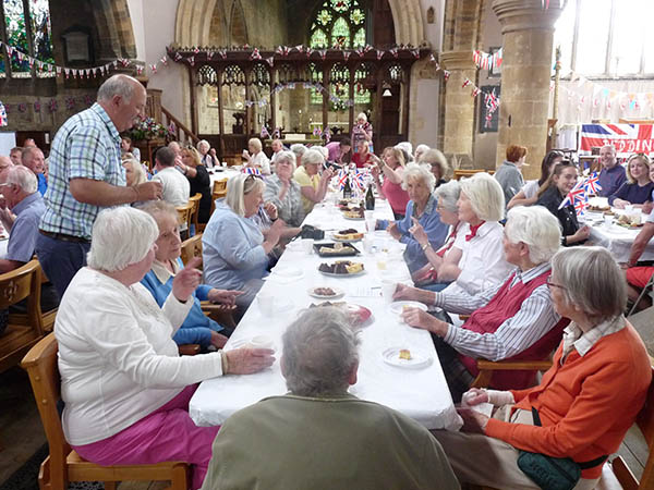
M 125 186 L 120 160 L 120 133 L 143 114 L 145 101 L 138 81 L 113 75 L 100 86 L 97 102 L 55 136 L 36 254 L 60 296 L 86 266 L 90 231 L 102 208 L 161 197 L 157 182 Z

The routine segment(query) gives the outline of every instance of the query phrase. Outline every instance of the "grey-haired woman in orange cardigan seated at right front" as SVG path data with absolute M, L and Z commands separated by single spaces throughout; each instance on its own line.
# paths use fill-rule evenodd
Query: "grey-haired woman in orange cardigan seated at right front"
M 555 310 L 571 322 L 541 384 L 518 391 L 472 389 L 468 405 L 488 402 L 495 405 L 492 417 L 461 408 L 460 432 L 433 432 L 461 482 L 550 488 L 541 479 L 550 475 L 544 460 L 545 466 L 565 463 L 580 470 L 568 488 L 593 489 L 645 402 L 650 357 L 622 316 L 625 281 L 610 253 L 601 247 L 559 250 L 547 286 Z

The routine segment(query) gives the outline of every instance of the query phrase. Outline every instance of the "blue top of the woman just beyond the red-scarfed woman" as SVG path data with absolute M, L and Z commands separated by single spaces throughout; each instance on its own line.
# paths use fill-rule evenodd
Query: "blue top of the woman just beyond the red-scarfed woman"
M 425 211 L 417 219 L 417 222 L 425 229 L 425 233 L 429 238 L 432 248 L 435 250 L 443 246 L 445 238 L 447 238 L 447 232 L 449 231 L 449 224 L 445 224 L 443 221 L 440 221 L 440 215 L 438 215 L 438 211 L 436 211 L 436 198 L 434 195 L 431 195 L 429 199 L 427 200 L 427 205 L 425 206 Z M 398 226 L 398 231 L 402 234 L 400 242 L 407 244 L 407 249 L 404 250 L 404 260 L 407 261 L 407 266 L 411 272 L 415 272 L 421 267 L 425 266 L 428 262 L 428 259 L 420 246 L 420 243 L 417 243 L 413 235 L 409 232 L 409 229 L 413 226 L 413 222 L 411 221 L 412 216 L 413 201 L 410 200 L 407 204 L 407 213 L 404 215 L 404 218 L 396 221 L 396 224 Z M 382 229 L 386 229 L 388 226 L 388 221 L 379 220 L 378 225 Z

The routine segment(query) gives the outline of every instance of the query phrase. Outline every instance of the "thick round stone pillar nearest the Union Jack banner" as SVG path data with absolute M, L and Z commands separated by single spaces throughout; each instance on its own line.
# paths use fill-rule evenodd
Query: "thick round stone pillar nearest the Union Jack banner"
M 525 179 L 537 179 L 547 143 L 549 81 L 554 23 L 561 9 L 541 0 L 494 0 L 501 24 L 504 60 L 496 163 L 505 160 L 508 145 L 528 149 Z

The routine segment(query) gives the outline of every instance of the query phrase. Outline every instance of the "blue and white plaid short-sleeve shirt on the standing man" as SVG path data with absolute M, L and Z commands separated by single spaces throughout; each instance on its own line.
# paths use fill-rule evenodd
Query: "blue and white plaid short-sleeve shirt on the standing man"
M 125 185 L 120 135 L 98 103 L 70 118 L 57 132 L 50 151 L 46 213 L 40 229 L 90 240 L 99 206 L 80 203 L 71 194 L 72 179 Z

